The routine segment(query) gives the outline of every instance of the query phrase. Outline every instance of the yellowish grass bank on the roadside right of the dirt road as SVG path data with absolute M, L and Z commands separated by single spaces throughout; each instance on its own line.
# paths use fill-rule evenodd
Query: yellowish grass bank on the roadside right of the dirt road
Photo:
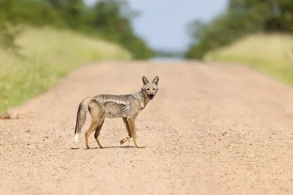
M 293 36 L 252 35 L 228 47 L 209 52 L 205 60 L 246 64 L 293 84 Z

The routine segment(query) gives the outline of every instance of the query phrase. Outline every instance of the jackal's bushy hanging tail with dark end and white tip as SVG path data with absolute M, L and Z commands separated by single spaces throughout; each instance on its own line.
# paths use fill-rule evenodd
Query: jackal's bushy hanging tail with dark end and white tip
M 86 120 L 86 112 L 88 111 L 88 104 L 93 100 L 92 97 L 85 98 L 79 105 L 77 116 L 76 116 L 76 125 L 75 125 L 75 143 L 77 143 L 78 134 L 81 132 L 84 122 Z

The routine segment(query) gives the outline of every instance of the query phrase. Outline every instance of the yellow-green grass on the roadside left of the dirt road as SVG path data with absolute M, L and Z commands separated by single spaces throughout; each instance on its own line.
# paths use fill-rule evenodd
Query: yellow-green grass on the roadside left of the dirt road
M 118 45 L 48 27 L 27 28 L 17 42 L 24 59 L 0 49 L 0 113 L 50 89 L 81 65 L 131 59 Z

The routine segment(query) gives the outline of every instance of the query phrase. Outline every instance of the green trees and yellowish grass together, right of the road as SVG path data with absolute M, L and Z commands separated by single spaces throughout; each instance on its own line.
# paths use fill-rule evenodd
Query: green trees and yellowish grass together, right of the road
M 292 0 L 229 0 L 224 13 L 188 30 L 185 58 L 238 62 L 293 84 Z

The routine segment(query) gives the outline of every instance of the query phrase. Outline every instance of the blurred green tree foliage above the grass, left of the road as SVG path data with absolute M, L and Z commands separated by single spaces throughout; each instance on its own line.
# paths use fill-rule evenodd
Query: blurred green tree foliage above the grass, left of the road
M 15 45 L 14 26 L 50 25 L 102 36 L 122 45 L 135 59 L 151 58 L 154 52 L 132 27 L 136 16 L 125 0 L 99 0 L 93 6 L 84 0 L 0 0 L 0 44 Z

